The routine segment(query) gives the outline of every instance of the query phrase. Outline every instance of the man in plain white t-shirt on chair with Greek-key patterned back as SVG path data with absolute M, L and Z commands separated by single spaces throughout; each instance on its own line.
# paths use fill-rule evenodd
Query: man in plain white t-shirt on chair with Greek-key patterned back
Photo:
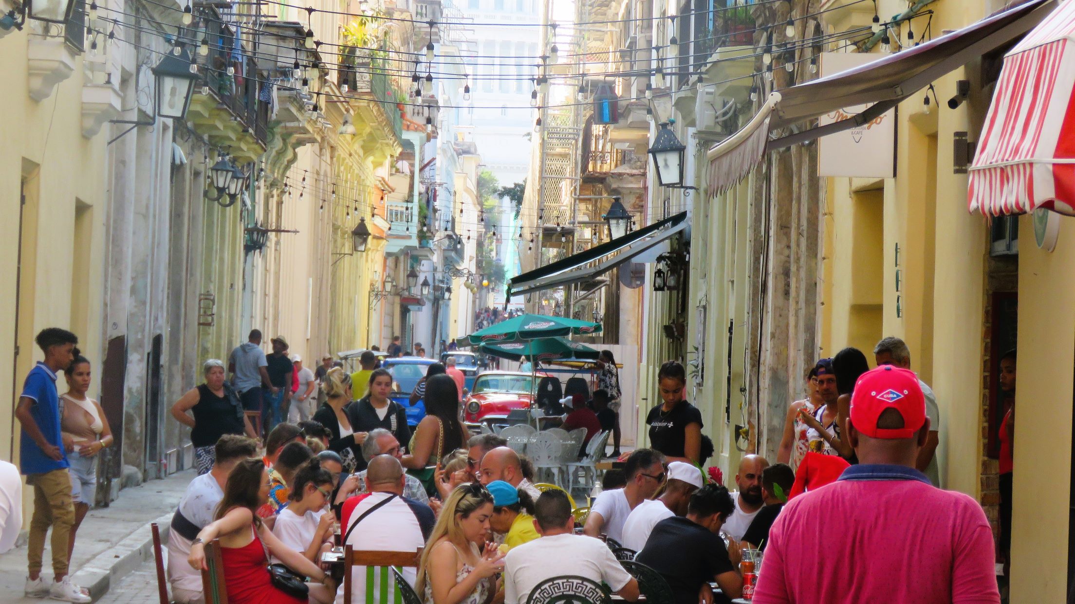
M 504 604 L 525 604 L 534 587 L 554 577 L 563 577 L 565 584 L 571 577 L 585 577 L 606 584 L 628 602 L 639 599 L 637 581 L 620 566 L 612 550 L 600 540 L 575 534 L 567 493 L 543 492 L 534 506 L 534 517 L 541 538 L 516 546 L 504 557 Z M 549 589 L 570 588 L 563 585 Z

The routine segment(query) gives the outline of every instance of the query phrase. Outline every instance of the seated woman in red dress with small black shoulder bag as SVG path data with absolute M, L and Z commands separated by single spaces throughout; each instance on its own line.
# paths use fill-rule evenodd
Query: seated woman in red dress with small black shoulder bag
M 289 569 L 318 580 L 312 590 L 326 589 L 334 593 L 331 578 L 302 553 L 276 538 L 254 510 L 268 501 L 269 473 L 260 459 L 241 461 L 228 475 L 224 499 L 216 508 L 216 520 L 198 533 L 187 561 L 195 569 L 205 569 L 205 543 L 220 540 L 224 559 L 224 583 L 231 604 L 304 604 L 272 585 L 268 571 L 268 553 Z

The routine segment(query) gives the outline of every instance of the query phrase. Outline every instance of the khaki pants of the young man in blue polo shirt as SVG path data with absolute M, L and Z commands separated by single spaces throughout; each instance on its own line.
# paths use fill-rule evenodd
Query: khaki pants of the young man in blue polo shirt
M 56 576 L 68 574 L 68 543 L 74 526 L 74 505 L 71 503 L 71 476 L 66 468 L 44 474 L 30 474 L 26 481 L 33 485 L 33 518 L 30 520 L 29 570 L 41 571 L 45 551 L 45 534 L 53 528 L 53 572 Z

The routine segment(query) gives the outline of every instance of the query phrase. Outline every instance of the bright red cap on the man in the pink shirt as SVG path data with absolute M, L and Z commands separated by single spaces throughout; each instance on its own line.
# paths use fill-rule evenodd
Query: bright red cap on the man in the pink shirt
M 877 428 L 885 409 L 903 416 L 903 428 Z M 873 438 L 911 438 L 926 422 L 926 397 L 915 372 L 882 365 L 859 376 L 851 394 L 851 423 Z

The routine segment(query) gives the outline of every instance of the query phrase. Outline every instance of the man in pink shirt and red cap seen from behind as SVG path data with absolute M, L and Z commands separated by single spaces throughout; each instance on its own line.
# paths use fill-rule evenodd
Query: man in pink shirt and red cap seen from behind
M 930 430 L 915 374 L 862 374 L 849 419 L 860 463 L 784 507 L 754 602 L 999 603 L 981 507 L 915 470 Z

